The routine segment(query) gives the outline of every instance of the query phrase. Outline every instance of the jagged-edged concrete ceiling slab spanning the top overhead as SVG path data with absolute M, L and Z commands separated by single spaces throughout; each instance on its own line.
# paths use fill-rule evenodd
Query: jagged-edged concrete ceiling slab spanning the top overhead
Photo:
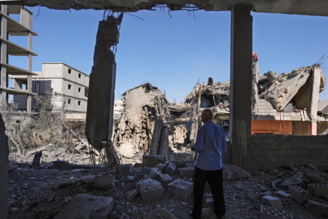
M 94 9 L 136 12 L 152 9 L 158 3 L 171 10 L 195 5 L 205 11 L 230 11 L 238 5 L 250 5 L 254 12 L 328 16 L 326 0 L 21 0 L 2 1 L 4 5 L 44 6 L 49 9 Z

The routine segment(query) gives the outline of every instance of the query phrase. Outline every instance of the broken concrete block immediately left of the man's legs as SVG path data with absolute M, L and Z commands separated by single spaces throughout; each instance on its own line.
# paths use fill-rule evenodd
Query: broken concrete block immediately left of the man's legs
M 168 185 L 168 191 L 181 199 L 188 198 L 193 191 L 193 184 L 184 180 L 175 180 Z

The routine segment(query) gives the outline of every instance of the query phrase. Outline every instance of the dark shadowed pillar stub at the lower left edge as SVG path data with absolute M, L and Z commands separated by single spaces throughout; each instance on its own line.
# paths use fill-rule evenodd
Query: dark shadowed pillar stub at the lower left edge
M 7 218 L 9 189 L 9 148 L 8 137 L 5 134 L 5 123 L 0 114 L 0 219 Z

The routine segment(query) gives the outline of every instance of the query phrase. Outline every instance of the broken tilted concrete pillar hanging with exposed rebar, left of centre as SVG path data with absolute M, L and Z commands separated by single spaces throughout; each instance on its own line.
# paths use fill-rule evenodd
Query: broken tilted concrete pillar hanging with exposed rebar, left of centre
M 119 42 L 122 16 L 99 22 L 93 67 L 90 74 L 85 133 L 88 142 L 100 151 L 112 138 L 114 92 L 116 79 L 115 54 L 112 47 Z

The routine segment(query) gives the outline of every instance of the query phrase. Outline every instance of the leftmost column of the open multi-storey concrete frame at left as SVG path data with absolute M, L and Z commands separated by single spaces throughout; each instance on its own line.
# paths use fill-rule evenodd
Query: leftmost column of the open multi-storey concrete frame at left
M 6 5 L 2 5 L 1 7 L 1 11 L 5 14 L 7 14 L 7 6 Z M 1 37 L 7 39 L 7 18 L 2 16 L 1 17 L 1 33 L 0 33 Z M 0 61 L 3 63 L 7 63 L 7 43 L 4 41 L 1 41 L 1 55 L 0 55 Z M 0 67 L 0 86 L 2 87 L 7 87 L 7 67 L 4 65 L 1 65 Z M 5 103 L 7 102 L 7 91 L 6 90 L 2 90 L 1 93 L 1 102 Z

